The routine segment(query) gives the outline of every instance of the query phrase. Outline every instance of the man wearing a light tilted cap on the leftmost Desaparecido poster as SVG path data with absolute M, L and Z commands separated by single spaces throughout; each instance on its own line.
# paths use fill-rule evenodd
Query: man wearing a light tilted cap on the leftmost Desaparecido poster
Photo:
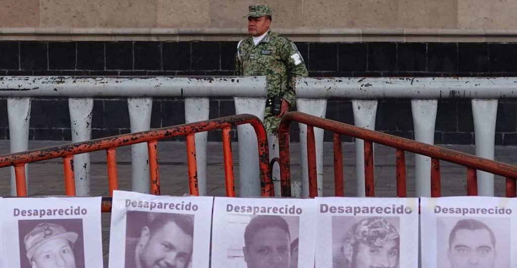
M 73 243 L 78 234 L 63 226 L 40 223 L 24 238 L 32 268 L 75 268 Z

